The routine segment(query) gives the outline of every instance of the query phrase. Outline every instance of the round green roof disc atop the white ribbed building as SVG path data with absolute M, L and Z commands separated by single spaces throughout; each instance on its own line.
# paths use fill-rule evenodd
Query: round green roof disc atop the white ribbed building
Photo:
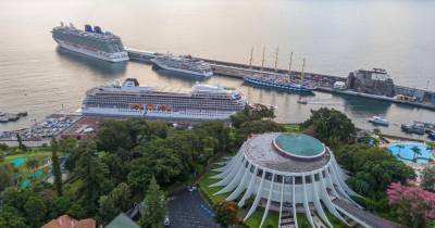
M 283 155 L 301 159 L 318 157 L 325 152 L 321 141 L 303 134 L 282 134 L 275 138 L 274 144 Z

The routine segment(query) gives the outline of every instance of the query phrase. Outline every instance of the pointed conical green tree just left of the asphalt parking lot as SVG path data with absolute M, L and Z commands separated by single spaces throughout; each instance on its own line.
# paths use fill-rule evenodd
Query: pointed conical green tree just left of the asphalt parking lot
M 151 177 L 147 194 L 144 198 L 144 210 L 139 225 L 146 228 L 163 227 L 163 219 L 166 215 L 166 199 L 154 177 Z

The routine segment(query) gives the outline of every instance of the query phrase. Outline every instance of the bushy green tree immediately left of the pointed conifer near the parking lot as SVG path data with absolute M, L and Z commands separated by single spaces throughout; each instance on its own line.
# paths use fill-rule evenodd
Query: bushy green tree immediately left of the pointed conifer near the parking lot
M 99 200 L 98 220 L 100 224 L 108 224 L 121 212 L 132 206 L 132 198 L 128 185 L 122 182 L 116 186 L 108 195 Z

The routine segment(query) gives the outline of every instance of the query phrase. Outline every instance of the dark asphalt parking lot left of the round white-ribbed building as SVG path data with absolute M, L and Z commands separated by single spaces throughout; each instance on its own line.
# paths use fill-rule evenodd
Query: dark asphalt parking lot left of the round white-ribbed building
M 217 227 L 214 223 L 214 212 L 202 200 L 198 190 L 187 189 L 171 195 L 169 202 L 170 227 L 173 228 L 206 228 Z

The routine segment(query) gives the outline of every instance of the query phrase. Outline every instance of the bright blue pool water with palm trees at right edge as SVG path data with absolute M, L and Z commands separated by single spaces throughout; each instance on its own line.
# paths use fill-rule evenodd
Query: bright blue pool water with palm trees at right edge
M 412 148 L 417 147 L 420 149 L 421 154 L 414 154 Z M 426 144 L 420 142 L 396 142 L 388 145 L 388 151 L 395 155 L 398 160 L 403 162 L 412 162 L 415 157 L 415 162 L 420 164 L 426 164 L 430 159 L 434 160 L 432 149 L 427 148 Z

